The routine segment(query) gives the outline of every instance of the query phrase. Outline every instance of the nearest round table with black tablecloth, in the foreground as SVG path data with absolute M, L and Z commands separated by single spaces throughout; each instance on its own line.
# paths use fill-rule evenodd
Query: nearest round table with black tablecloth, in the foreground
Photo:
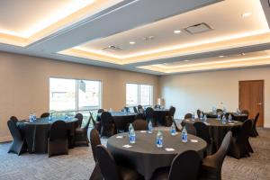
M 136 169 L 145 179 L 150 179 L 158 167 L 170 166 L 174 157 L 185 150 L 195 150 L 200 156 L 207 144 L 203 139 L 188 134 L 188 142 L 181 141 L 180 133 L 171 136 L 169 131 L 163 131 L 164 148 L 156 147 L 157 131 L 148 134 L 145 131 L 136 131 L 136 143 L 130 144 L 127 133 L 121 133 L 108 139 L 107 148 L 112 152 L 117 163 Z M 122 137 L 122 138 L 119 138 Z M 191 139 L 198 140 L 192 142 Z M 130 144 L 131 148 L 124 148 Z M 166 151 L 165 148 L 175 148 L 175 151 Z

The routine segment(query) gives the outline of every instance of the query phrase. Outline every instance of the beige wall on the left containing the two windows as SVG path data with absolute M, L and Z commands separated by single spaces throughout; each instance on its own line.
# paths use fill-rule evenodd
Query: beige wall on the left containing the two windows
M 10 139 L 11 115 L 23 119 L 49 111 L 49 76 L 101 80 L 106 109 L 125 105 L 126 83 L 154 85 L 154 102 L 159 94 L 158 76 L 0 52 L 0 141 Z

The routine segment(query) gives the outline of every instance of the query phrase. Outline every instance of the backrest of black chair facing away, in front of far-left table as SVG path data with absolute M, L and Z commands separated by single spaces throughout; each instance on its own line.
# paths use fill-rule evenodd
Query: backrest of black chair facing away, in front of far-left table
M 65 121 L 54 121 L 49 129 L 49 141 L 67 139 L 67 124 Z

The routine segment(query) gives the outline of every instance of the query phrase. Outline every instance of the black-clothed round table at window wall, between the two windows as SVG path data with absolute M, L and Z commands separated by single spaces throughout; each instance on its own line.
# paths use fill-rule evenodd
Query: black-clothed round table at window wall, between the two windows
M 116 130 L 128 131 L 129 124 L 135 120 L 137 113 L 133 112 L 111 112 Z M 97 114 L 97 121 L 101 121 L 101 113 Z

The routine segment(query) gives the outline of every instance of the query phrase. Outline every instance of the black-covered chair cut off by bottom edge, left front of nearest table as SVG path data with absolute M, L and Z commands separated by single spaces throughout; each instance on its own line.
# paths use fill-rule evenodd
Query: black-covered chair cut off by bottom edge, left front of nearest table
M 111 152 L 98 145 L 95 148 L 98 165 L 104 180 L 137 180 L 140 175 L 126 166 L 117 166 Z

